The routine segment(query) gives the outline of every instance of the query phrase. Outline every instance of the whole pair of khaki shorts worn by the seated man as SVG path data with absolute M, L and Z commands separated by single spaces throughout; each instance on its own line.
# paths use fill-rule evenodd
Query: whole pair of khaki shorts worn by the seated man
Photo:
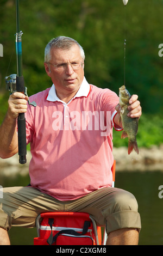
M 141 229 L 140 215 L 133 194 L 120 188 L 102 188 L 77 200 L 62 202 L 32 187 L 3 188 L 0 198 L 0 227 L 35 227 L 41 212 L 88 212 L 106 233 L 122 228 Z

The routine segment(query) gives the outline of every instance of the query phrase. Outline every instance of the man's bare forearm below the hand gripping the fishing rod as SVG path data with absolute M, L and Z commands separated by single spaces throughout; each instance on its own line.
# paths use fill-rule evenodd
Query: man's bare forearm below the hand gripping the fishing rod
M 6 114 L 0 126 L 0 157 L 9 158 L 18 152 L 18 141 L 16 132 L 16 119 Z

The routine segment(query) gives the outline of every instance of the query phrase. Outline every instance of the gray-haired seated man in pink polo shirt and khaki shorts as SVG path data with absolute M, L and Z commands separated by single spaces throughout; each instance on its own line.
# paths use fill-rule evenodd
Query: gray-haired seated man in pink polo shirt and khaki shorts
M 84 50 L 74 39 L 59 36 L 45 48 L 45 70 L 53 85 L 30 97 L 15 92 L 0 127 L 0 156 L 18 152 L 16 120 L 26 113 L 31 185 L 3 188 L 0 243 L 10 244 L 12 226 L 34 227 L 45 211 L 84 211 L 106 225 L 108 245 L 136 245 L 141 228 L 133 194 L 112 188 L 112 128 L 122 130 L 115 107 L 118 96 L 89 84 L 84 77 Z M 129 115 L 141 116 L 137 95 Z

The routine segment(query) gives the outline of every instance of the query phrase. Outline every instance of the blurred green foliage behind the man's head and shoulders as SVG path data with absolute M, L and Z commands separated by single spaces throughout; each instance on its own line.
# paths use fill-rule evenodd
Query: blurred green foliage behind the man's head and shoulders
M 0 0 L 0 122 L 8 106 L 4 77 L 16 74 L 15 1 Z M 43 65 L 44 49 L 58 35 L 70 36 L 83 46 L 85 76 L 89 83 L 118 94 L 124 83 L 124 33 L 126 33 L 126 87 L 138 94 L 143 115 L 139 121 L 139 146 L 162 143 L 163 58 L 159 57 L 163 1 L 129 0 L 20 0 L 23 75 L 28 95 L 51 87 Z M 12 56 L 12 57 L 11 57 Z M 10 65 L 9 65 L 10 63 Z M 116 147 L 127 145 L 114 132 Z

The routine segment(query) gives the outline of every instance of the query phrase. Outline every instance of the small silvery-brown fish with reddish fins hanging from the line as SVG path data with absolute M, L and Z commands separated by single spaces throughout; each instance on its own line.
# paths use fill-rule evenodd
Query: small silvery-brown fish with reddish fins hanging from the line
M 139 154 L 139 149 L 137 146 L 136 135 L 138 131 L 138 118 L 128 117 L 128 106 L 129 99 L 131 97 L 130 93 L 126 89 L 126 86 L 121 86 L 119 88 L 119 105 L 121 106 L 120 120 L 123 125 L 123 132 L 121 138 L 128 137 L 128 154 L 130 154 L 133 149 L 137 154 Z

